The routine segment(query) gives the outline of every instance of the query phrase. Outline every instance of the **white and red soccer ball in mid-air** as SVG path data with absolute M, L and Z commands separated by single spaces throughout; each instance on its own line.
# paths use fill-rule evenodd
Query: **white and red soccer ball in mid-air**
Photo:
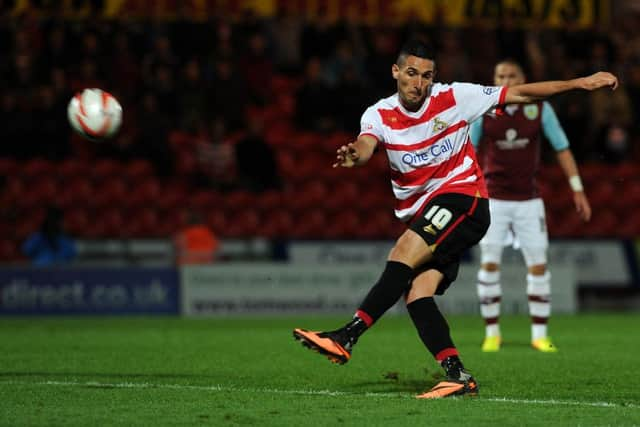
M 122 124 L 122 107 L 109 92 L 85 89 L 78 92 L 67 107 L 71 127 L 91 140 L 112 137 Z

